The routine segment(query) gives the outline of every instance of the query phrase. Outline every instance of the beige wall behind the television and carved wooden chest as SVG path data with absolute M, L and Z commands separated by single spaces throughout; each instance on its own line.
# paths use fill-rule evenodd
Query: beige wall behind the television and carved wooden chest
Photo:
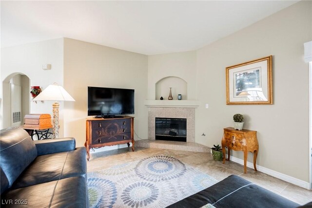
M 147 138 L 147 56 L 64 38 L 64 88 L 76 100 L 65 103 L 64 134 L 77 146 L 85 142 L 88 86 L 135 89 L 135 132 Z

